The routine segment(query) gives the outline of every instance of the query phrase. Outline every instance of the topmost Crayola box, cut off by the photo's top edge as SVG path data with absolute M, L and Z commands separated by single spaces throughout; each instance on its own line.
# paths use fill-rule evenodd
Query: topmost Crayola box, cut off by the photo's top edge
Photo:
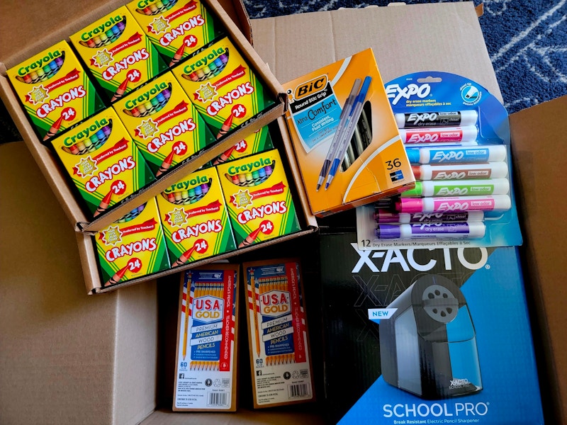
M 200 0 L 133 0 L 126 7 L 169 67 L 224 35 Z

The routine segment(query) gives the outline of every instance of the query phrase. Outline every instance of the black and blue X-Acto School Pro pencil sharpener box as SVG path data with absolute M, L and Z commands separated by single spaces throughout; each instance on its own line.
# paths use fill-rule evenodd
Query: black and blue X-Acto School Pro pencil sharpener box
M 321 235 L 337 424 L 544 424 L 517 248 L 359 250 Z

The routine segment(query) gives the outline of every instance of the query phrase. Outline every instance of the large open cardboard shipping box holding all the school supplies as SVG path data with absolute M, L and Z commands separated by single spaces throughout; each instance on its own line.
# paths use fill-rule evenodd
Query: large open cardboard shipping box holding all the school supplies
M 59 27 L 62 11 L 75 25 L 75 30 L 91 20 L 86 17 L 86 21 L 80 22 L 84 8 L 79 10 L 63 2 L 57 6 L 27 8 L 25 14 L 16 15 L 14 11 L 20 10 L 20 3 L 0 3 L 0 36 L 5 62 L 16 64 L 29 56 L 21 50 L 19 40 L 32 40 L 37 51 L 48 47 L 49 41 L 45 38 L 34 37 L 36 28 L 28 26 L 28 22 L 50 23 L 52 34 L 63 38 L 70 31 Z M 117 6 L 118 3 L 109 3 L 96 7 L 103 16 Z M 229 10 L 232 18 L 246 23 L 242 8 L 240 14 L 235 13 L 235 8 Z M 411 43 L 395 30 L 408 23 L 415 33 Z M 372 47 L 384 80 L 418 70 L 439 69 L 475 79 L 500 96 L 471 2 L 300 13 L 253 20 L 252 29 L 256 50 L 269 62 L 280 81 L 289 81 L 340 57 Z M 302 39 L 309 42 L 298 46 L 298 33 L 305 33 Z M 431 42 L 432 34 L 444 40 L 442 49 L 438 43 Z M 281 60 L 284 55 L 293 64 L 286 66 L 287 61 Z M 10 107 L 6 82 L 0 79 L 2 99 L 18 121 L 20 130 L 26 130 L 27 126 L 22 125 L 26 123 L 26 115 Z M 558 172 L 566 168 L 566 147 L 557 143 L 563 137 L 561 117 L 565 111 L 567 99 L 560 98 L 512 114 L 510 118 L 517 199 L 527 241 L 521 248 L 522 259 L 527 264 L 528 302 L 530 307 L 537 305 L 539 312 L 534 339 L 541 365 L 544 414 L 551 424 L 567 424 L 564 331 L 567 295 L 561 285 L 564 274 L 561 265 L 567 263 L 567 255 L 563 249 L 558 249 L 567 234 L 550 220 L 550 217 L 562 217 L 566 205 L 555 192 L 549 191 L 550 181 L 559 188 L 567 186 L 566 177 Z M 26 134 L 30 134 L 29 128 Z M 0 153 L 0 217 L 4 223 L 0 232 L 3 242 L 0 248 L 2 422 L 323 423 L 318 404 L 310 404 L 308 410 L 301 411 L 282 407 L 257 412 L 242 407 L 236 414 L 172 412 L 169 406 L 174 349 L 162 348 L 175 344 L 177 276 L 174 279 L 169 276 L 171 281 L 160 278 L 160 285 L 150 280 L 103 297 L 87 297 L 81 283 L 77 240 L 65 222 L 67 210 L 72 207 L 66 204 L 61 193 L 50 192 L 49 183 L 43 177 L 48 181 L 61 178 L 57 170 L 47 166 L 51 161 L 47 148 L 43 151 L 38 147 L 26 149 L 26 145 L 18 142 L 1 145 Z M 29 187 L 25 198 L 21 195 L 24 183 Z M 302 239 L 294 240 L 302 246 Z M 30 267 L 30 257 L 23 255 L 30 252 L 30 242 L 35 246 L 33 267 Z M 83 245 L 79 240 L 84 250 Z M 272 251 L 279 246 L 264 249 Z M 262 256 L 264 249 L 248 255 Z M 174 307 L 167 308 L 172 302 Z M 160 310 L 162 320 L 158 323 L 157 305 L 163 307 L 163 303 L 166 308 Z M 313 338 L 313 334 L 311 336 Z M 167 340 L 173 343 L 165 344 Z M 320 356 L 314 354 L 315 366 L 319 362 Z M 169 401 L 162 402 L 167 398 Z

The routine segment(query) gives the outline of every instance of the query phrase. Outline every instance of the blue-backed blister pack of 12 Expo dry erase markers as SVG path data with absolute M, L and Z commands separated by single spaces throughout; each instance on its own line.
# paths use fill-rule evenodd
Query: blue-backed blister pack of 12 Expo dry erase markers
M 357 208 L 359 248 L 522 243 L 505 108 L 474 81 L 420 72 L 386 84 L 415 188 Z

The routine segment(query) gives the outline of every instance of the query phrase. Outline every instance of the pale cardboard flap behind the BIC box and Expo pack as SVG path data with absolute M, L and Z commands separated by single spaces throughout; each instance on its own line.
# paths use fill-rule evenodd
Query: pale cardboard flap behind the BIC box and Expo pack
M 433 36 L 439 28 L 441 38 Z M 452 72 L 502 101 L 472 1 L 253 19 L 252 33 L 257 52 L 282 82 L 371 47 L 385 83 L 410 72 Z

